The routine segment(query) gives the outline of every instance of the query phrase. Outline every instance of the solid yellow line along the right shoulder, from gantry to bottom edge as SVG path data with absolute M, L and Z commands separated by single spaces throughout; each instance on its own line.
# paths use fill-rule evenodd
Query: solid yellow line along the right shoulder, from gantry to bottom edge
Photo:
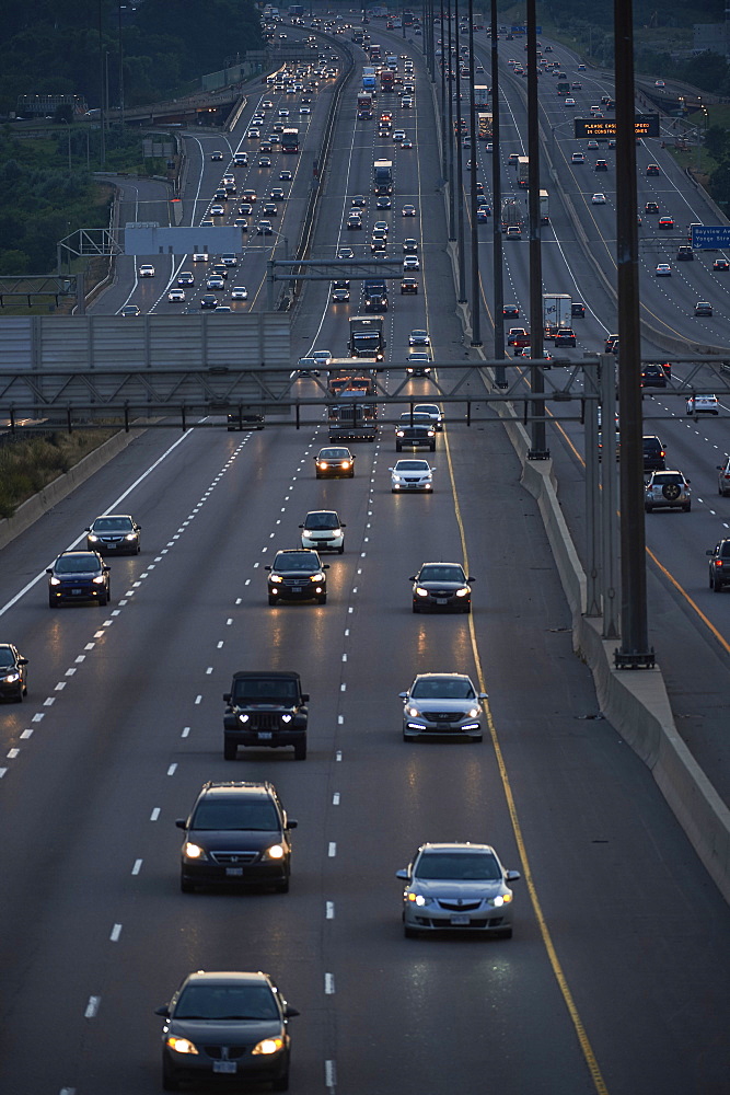
M 462 553 L 464 557 L 464 567 L 466 573 L 470 572 L 468 565 L 468 551 L 466 548 L 466 534 L 464 532 L 464 522 L 462 520 L 461 507 L 459 505 L 459 495 L 456 493 L 456 481 L 454 479 L 454 469 L 451 460 L 451 448 L 449 446 L 449 438 L 447 433 L 443 434 L 443 442 L 447 452 L 447 463 L 449 465 L 449 477 L 451 481 L 451 494 L 454 500 L 454 512 L 456 516 L 456 525 L 459 526 L 459 535 L 461 539 Z M 479 649 L 476 641 L 476 631 L 474 629 L 474 616 L 470 614 L 468 616 L 468 630 L 470 638 L 472 643 L 472 652 L 474 655 L 474 662 L 476 665 L 477 678 L 479 682 L 479 691 L 486 692 L 486 681 L 484 678 L 484 671 L 482 669 L 482 658 L 479 657 Z M 522 826 L 520 825 L 520 817 L 518 815 L 517 804 L 514 802 L 514 795 L 512 794 L 512 785 L 510 783 L 509 773 L 507 771 L 507 765 L 505 763 L 505 758 L 502 754 L 501 746 L 499 744 L 499 735 L 497 734 L 497 727 L 491 714 L 491 707 L 489 706 L 489 701 L 484 701 L 484 710 L 487 716 L 487 725 L 489 727 L 489 736 L 491 738 L 491 744 L 495 750 L 495 757 L 497 758 L 497 766 L 499 769 L 499 777 L 502 783 L 505 791 L 505 798 L 507 800 L 507 808 L 509 810 L 510 821 L 512 823 L 512 831 L 514 833 L 514 840 L 518 846 L 518 853 L 520 855 L 520 862 L 522 864 L 522 874 L 530 894 L 530 900 L 535 912 L 535 919 L 537 920 L 537 926 L 540 927 L 540 934 L 543 940 L 543 945 L 547 953 L 547 958 L 553 970 L 553 976 L 557 981 L 558 988 L 565 1001 L 565 1005 L 568 1008 L 568 1014 L 570 1021 L 573 1025 L 576 1036 L 578 1038 L 578 1044 L 580 1046 L 581 1052 L 586 1064 L 588 1065 L 588 1071 L 591 1074 L 593 1081 L 593 1086 L 598 1095 L 609 1095 L 609 1088 L 605 1085 L 601 1069 L 599 1068 L 598 1060 L 595 1059 L 595 1053 L 591 1046 L 588 1034 L 586 1033 L 586 1027 L 578 1012 L 578 1007 L 573 1000 L 570 987 L 568 986 L 568 980 L 560 965 L 560 959 L 557 956 L 557 952 L 553 944 L 553 936 L 551 935 L 549 927 L 547 926 L 547 921 L 545 920 L 545 914 L 543 913 L 542 906 L 540 903 L 540 898 L 537 897 L 537 887 L 535 886 L 535 880 L 533 878 L 532 868 L 530 866 L 530 858 L 528 856 L 528 849 L 525 845 L 524 837 L 522 835 Z

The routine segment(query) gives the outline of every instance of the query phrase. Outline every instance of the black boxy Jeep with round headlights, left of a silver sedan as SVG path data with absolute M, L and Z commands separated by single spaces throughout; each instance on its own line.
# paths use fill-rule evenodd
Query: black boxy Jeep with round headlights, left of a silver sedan
M 312 555 L 316 552 L 311 552 Z M 242 670 L 233 673 L 223 700 L 223 757 L 235 760 L 239 746 L 294 747 L 294 760 L 306 759 L 309 692 L 299 673 Z

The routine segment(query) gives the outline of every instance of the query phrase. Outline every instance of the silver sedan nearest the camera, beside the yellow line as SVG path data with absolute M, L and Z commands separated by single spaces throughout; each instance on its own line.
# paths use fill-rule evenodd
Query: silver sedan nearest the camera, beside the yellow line
M 512 890 L 517 871 L 506 871 L 489 844 L 422 844 L 413 863 L 396 873 L 403 891 L 403 930 L 479 932 L 512 936 Z

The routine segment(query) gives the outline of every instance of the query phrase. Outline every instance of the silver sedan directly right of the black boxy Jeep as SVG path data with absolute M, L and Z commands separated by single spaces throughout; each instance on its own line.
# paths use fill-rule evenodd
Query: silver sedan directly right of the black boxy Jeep
M 403 740 L 437 735 L 482 740 L 482 700 L 465 673 L 419 673 L 403 700 Z

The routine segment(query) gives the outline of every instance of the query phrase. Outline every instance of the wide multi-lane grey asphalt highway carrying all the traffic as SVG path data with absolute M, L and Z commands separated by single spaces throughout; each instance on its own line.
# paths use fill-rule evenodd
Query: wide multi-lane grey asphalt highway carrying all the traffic
M 394 128 L 405 128 L 415 148 L 396 149 L 374 122 L 356 120 L 356 72 L 337 112 L 313 242 L 315 256 L 343 245 L 369 251 L 381 219 L 372 163 L 392 158 L 390 246 L 399 253 L 415 237 L 421 262 L 419 293 L 396 289 L 386 313 L 383 377 L 397 381 L 414 327 L 428 326 L 436 360 L 477 360 L 455 316 L 427 74 L 417 50 L 401 43 L 403 50 L 415 58 L 416 99 L 403 110 L 394 96 Z M 361 66 L 364 55 L 356 58 Z M 515 126 L 505 141 L 517 141 L 525 132 L 521 101 L 505 90 Z M 328 94 L 316 96 L 313 127 L 324 125 L 320 96 Z M 253 110 L 230 135 L 232 152 Z M 186 217 L 197 218 L 220 165 L 208 159 L 215 138 L 190 145 Z M 312 147 L 283 158 L 300 160 L 289 239 Z M 505 158 L 511 150 L 506 143 Z M 357 244 L 360 233 L 345 227 L 356 194 L 368 196 Z M 401 216 L 405 203 L 417 207 L 415 227 Z M 611 215 L 601 211 L 610 233 Z M 573 258 L 557 203 L 552 217 L 545 287 L 577 285 L 588 306 L 579 357 L 615 330 L 615 314 L 590 267 Z M 506 269 L 524 308 L 528 247 L 514 244 L 514 257 L 509 250 Z M 489 300 L 488 246 L 480 252 Z M 243 307 L 265 307 L 265 257 L 246 251 L 240 274 L 253 300 Z M 609 249 L 601 261 L 609 268 Z M 137 281 L 129 264 L 95 307 L 179 308 L 166 301 L 179 265 Z M 354 293 L 350 306 L 335 308 L 328 298 L 327 283 L 306 287 L 294 313 L 296 356 L 345 354 L 347 315 L 360 302 Z M 716 299 L 720 312 L 723 298 Z M 679 324 L 660 292 L 647 301 L 662 322 Z M 478 382 L 471 385 L 478 399 Z M 300 388 L 310 392 L 312 381 Z M 432 388 L 418 379 L 408 392 L 429 397 Z M 651 405 L 661 411 L 661 396 Z M 662 436 L 697 484 L 695 505 L 687 517 L 652 517 L 649 543 L 699 599 L 704 548 L 730 510 L 720 499 L 711 514 L 697 495 L 719 462 L 706 453 L 723 437 L 727 445 L 727 434 L 722 418 L 688 429 L 691 419 L 672 410 Z M 537 507 L 520 486 L 505 433 L 490 423 L 447 424 L 428 454 L 432 496 L 392 494 L 387 424 L 373 445 L 355 447 L 352 480 L 315 479 L 313 457 L 326 443 L 316 410 L 299 430 L 150 430 L 3 550 L 2 631 L 30 659 L 30 688 L 22 706 L 0 714 L 0 1091 L 160 1091 L 153 1011 L 188 971 L 205 968 L 265 970 L 300 1011 L 290 1023 L 292 1092 L 725 1092 L 727 906 L 650 772 L 600 717 L 590 672 L 571 650 Z M 551 430 L 549 443 L 579 531 L 581 434 Z M 297 546 L 298 526 L 315 508 L 337 509 L 347 522 L 345 554 L 327 560 L 327 603 L 269 608 L 264 566 L 278 549 Z M 50 610 L 46 566 L 97 514 L 114 511 L 141 525 L 142 552 L 111 561 L 111 606 Z M 681 534 L 669 531 L 675 521 Z M 463 561 L 475 576 L 472 615 L 412 613 L 408 576 L 430 560 Z M 668 652 L 670 684 L 673 652 L 683 649 L 676 680 L 686 688 L 703 679 L 710 641 L 651 574 L 652 634 L 662 665 Z M 707 599 L 727 638 L 728 601 Z M 718 655 L 716 665 L 719 708 L 727 659 Z M 244 668 L 301 673 L 311 693 L 305 763 L 269 750 L 223 760 L 222 693 Z M 482 744 L 402 740 L 398 693 L 428 670 L 470 673 L 488 693 Z M 709 712 L 707 693 L 696 703 Z M 707 714 L 703 734 L 712 725 Z M 718 756 L 717 769 L 723 763 Z M 270 780 L 298 819 L 287 895 L 179 891 L 175 819 L 205 781 L 232 779 Z M 513 938 L 404 938 L 395 872 L 427 840 L 489 842 L 521 873 Z

